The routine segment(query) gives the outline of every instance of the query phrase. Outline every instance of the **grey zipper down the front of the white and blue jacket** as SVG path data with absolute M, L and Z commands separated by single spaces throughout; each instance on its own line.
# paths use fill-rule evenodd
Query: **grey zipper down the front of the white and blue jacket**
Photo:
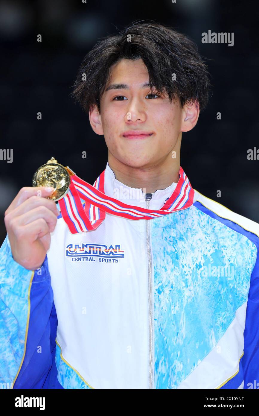
M 145 194 L 146 208 L 149 208 L 152 193 Z M 149 360 L 148 360 L 148 389 L 153 389 L 153 282 L 151 267 L 151 249 L 149 220 L 146 220 L 146 245 L 148 252 L 148 310 L 149 310 Z

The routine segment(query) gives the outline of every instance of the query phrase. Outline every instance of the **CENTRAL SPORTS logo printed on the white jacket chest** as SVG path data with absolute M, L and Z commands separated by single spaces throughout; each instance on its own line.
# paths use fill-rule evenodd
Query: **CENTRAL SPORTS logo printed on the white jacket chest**
M 116 244 L 109 247 L 105 244 L 68 244 L 66 247 L 66 256 L 72 258 L 72 261 L 96 261 L 99 257 L 99 262 L 118 262 L 119 258 L 124 258 L 124 250 L 121 250 L 121 245 Z M 116 260 L 114 260 L 116 259 Z M 83 260 L 83 261 L 84 261 Z

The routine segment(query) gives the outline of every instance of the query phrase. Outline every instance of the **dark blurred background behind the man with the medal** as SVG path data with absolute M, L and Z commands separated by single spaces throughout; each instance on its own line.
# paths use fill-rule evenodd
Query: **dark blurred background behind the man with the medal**
M 183 133 L 181 166 L 197 191 L 259 222 L 259 160 L 247 160 L 248 149 L 259 149 L 257 2 L 10 0 L 0 2 L 0 148 L 13 149 L 12 163 L 0 160 L 0 244 L 5 210 L 51 156 L 91 184 L 104 170 L 104 137 L 70 94 L 89 49 L 136 19 L 165 23 L 197 43 L 213 95 Z M 234 46 L 202 44 L 208 30 L 234 32 Z

